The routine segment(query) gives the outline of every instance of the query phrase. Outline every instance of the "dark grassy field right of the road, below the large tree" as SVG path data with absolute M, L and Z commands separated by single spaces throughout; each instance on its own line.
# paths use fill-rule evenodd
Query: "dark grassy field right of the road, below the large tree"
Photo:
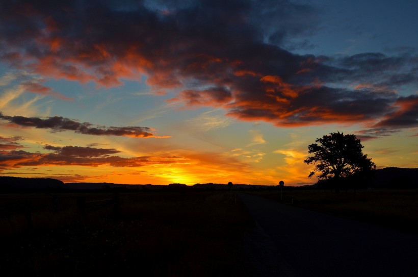
M 275 201 L 280 191 L 251 194 Z M 283 190 L 283 203 L 418 234 L 418 190 Z

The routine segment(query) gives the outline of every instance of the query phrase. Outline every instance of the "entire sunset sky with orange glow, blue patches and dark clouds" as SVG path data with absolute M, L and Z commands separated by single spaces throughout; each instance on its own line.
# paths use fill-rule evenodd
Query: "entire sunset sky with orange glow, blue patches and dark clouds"
M 2 1 L 0 175 L 315 183 L 355 134 L 418 167 L 418 2 Z

